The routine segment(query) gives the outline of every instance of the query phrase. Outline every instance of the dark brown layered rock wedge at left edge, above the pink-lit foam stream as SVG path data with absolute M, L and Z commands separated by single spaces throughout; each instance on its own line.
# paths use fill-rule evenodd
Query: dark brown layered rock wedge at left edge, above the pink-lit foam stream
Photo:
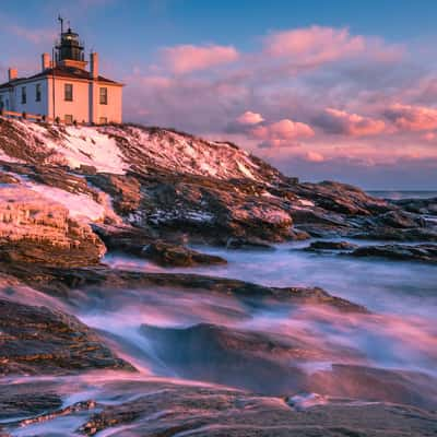
M 0 375 L 96 368 L 133 369 L 75 317 L 0 299 Z

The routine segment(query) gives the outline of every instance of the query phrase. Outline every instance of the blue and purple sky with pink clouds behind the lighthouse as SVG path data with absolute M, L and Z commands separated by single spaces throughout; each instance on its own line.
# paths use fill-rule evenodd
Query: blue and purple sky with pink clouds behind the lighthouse
M 434 0 L 1 2 L 4 81 L 39 69 L 59 13 L 126 84 L 126 121 L 232 141 L 302 180 L 437 190 Z

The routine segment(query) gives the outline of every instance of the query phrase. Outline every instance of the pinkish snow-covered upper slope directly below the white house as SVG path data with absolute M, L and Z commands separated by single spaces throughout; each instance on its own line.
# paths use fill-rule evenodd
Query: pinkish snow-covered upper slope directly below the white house
M 259 164 L 244 150 L 166 129 L 132 126 L 66 127 L 11 120 L 46 163 L 93 166 L 97 172 L 122 175 L 130 165 L 156 165 L 178 173 L 220 179 L 262 181 Z M 119 139 L 123 139 L 122 143 Z M 0 156 L 1 157 L 1 156 Z M 265 181 L 265 180 L 264 180 Z M 268 182 L 268 181 L 267 181 Z

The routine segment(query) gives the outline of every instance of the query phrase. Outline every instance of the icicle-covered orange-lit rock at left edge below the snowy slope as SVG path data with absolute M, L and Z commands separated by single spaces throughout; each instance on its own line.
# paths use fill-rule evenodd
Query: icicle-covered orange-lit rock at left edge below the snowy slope
M 21 186 L 0 190 L 0 259 L 47 265 L 96 264 L 106 248 L 67 208 Z

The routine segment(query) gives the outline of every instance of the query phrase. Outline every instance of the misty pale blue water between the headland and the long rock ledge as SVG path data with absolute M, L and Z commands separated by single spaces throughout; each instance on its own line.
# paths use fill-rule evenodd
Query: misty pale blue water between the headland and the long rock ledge
M 221 256 L 228 263 L 189 269 L 162 269 L 146 260 L 117 255 L 110 255 L 104 261 L 115 268 L 191 272 L 268 286 L 319 286 L 378 312 L 437 318 L 435 265 L 300 250 L 307 245 L 308 241 L 290 243 L 264 251 L 196 247 Z

